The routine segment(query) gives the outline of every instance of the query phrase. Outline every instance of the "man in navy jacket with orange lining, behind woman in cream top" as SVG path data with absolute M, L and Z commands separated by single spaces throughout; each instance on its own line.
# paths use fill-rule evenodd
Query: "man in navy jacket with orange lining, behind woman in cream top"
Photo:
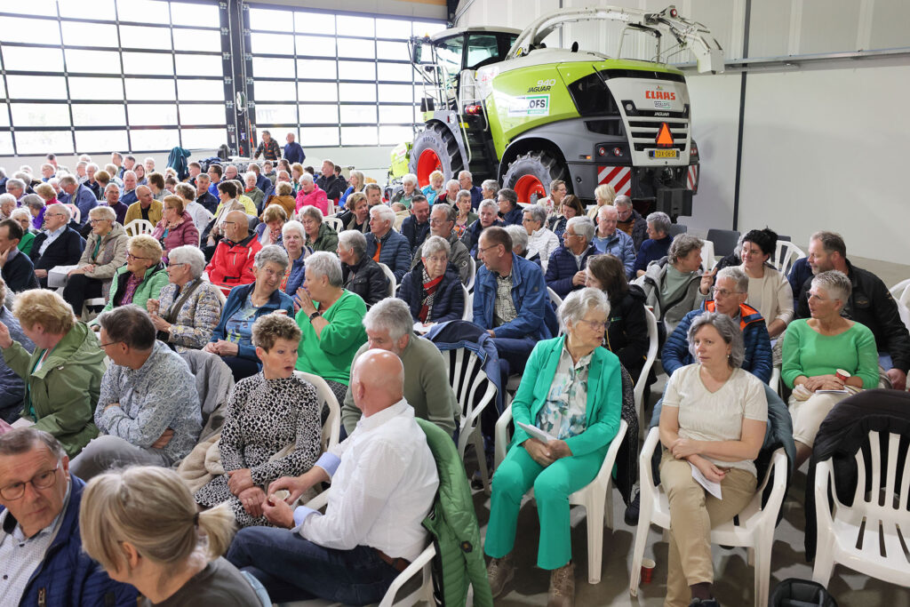
M 661 364 L 667 375 L 695 362 L 689 351 L 689 327 L 692 326 L 693 319 L 705 311 L 716 311 L 739 322 L 745 345 L 743 370 L 749 371 L 763 383 L 768 383 L 773 368 L 771 339 L 762 315 L 752 306 L 746 305 L 748 297 L 749 277 L 742 269 L 730 267 L 719 271 L 714 283 L 714 298 L 705 301 L 701 309 L 686 314 L 663 345 Z

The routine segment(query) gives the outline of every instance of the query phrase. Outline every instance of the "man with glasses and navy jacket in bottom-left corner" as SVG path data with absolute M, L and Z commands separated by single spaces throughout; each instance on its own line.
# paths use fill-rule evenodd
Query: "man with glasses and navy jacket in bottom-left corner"
M 0 596 L 5 605 L 136 604 L 82 551 L 85 483 L 57 440 L 22 428 L 0 435 Z

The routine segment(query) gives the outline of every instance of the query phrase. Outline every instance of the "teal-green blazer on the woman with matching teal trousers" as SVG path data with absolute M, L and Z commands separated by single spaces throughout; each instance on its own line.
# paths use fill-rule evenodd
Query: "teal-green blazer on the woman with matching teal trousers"
M 518 393 L 512 401 L 515 435 L 512 445 L 530 439 L 518 422 L 536 425 L 537 414 L 547 400 L 556 367 L 559 365 L 565 336 L 537 342 L 525 366 Z M 620 359 L 605 348 L 594 349 L 588 371 L 586 429 L 566 439 L 572 455 L 585 455 L 606 447 L 620 429 L 622 414 L 622 373 Z

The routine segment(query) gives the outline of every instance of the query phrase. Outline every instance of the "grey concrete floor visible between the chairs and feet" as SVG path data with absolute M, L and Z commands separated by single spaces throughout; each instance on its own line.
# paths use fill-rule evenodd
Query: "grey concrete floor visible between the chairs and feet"
M 876 261 L 874 259 L 850 258 L 855 266 L 875 272 L 885 281 L 889 288 L 895 283 L 910 278 L 910 266 Z M 653 402 L 661 393 L 666 377 L 661 376 L 652 390 L 652 403 L 647 408 L 650 417 Z M 812 579 L 812 563 L 805 561 L 804 549 L 804 501 L 805 470 L 797 470 L 784 501 L 784 520 L 774 533 L 774 545 L 771 559 L 770 592 L 777 583 L 787 578 Z M 662 605 L 666 591 L 667 579 L 667 543 L 662 540 L 662 533 L 652 527 L 645 557 L 656 561 L 653 581 L 640 586 L 638 597 L 629 593 L 629 572 L 632 566 L 632 544 L 635 529 L 625 524 L 622 519 L 625 505 L 619 491 L 612 490 L 613 529 L 603 530 L 603 561 L 601 582 L 595 585 L 588 583 L 587 556 L 587 521 L 581 508 L 571 511 L 572 558 L 575 562 L 575 604 L 579 607 L 599 605 L 657 607 Z M 490 515 L 490 499 L 482 491 L 474 494 L 474 505 L 480 522 L 481 537 L 486 532 Z M 497 605 L 545 605 L 550 583 L 550 574 L 535 565 L 537 561 L 537 542 L 539 523 L 535 505 L 525 501 L 519 516 L 519 526 L 515 544 L 515 562 L 517 572 L 515 579 L 509 583 Z M 713 547 L 714 556 L 714 593 L 724 606 L 751 606 L 754 604 L 753 580 L 754 570 L 746 561 L 743 548 L 725 550 Z M 910 585 L 910 580 L 908 580 Z M 910 591 L 907 588 L 871 579 L 863 574 L 852 572 L 842 565 L 834 568 L 834 574 L 828 584 L 828 590 L 840 607 L 910 607 Z M 758 607 L 758 606 L 756 606 Z M 763 607 L 763 606 L 761 606 Z

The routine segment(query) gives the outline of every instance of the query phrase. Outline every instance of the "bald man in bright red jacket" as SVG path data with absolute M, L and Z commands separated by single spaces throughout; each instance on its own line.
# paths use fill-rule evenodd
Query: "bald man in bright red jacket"
M 206 271 L 212 284 L 227 296 L 231 288 L 256 280 L 253 264 L 262 244 L 256 234 L 250 233 L 249 218 L 243 211 L 227 213 L 222 227 L 225 238 L 218 242 Z

